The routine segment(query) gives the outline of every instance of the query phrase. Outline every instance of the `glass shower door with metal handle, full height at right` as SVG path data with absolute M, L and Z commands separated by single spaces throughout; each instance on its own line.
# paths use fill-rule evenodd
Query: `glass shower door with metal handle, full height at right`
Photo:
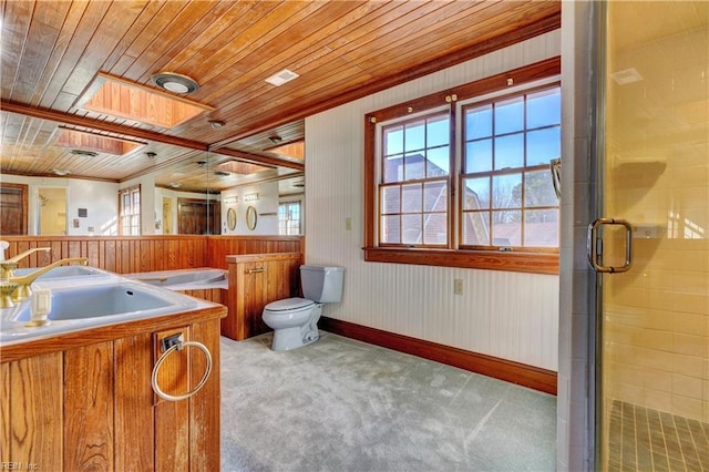
M 709 2 L 604 9 L 597 465 L 709 471 Z

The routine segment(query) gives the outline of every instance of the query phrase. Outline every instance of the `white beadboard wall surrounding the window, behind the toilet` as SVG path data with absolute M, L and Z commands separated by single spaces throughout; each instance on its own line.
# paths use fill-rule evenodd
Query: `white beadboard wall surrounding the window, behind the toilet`
M 342 302 L 326 305 L 325 316 L 557 371 L 558 276 L 366 263 L 361 248 L 364 114 L 556 57 L 559 38 L 551 32 L 306 120 L 306 261 L 347 269 Z M 463 295 L 453 294 L 456 278 Z

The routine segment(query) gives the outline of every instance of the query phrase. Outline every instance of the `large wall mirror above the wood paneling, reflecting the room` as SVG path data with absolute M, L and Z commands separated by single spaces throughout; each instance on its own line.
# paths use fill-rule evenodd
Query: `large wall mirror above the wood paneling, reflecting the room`
M 302 209 L 297 225 L 279 219 L 284 202 L 302 206 L 301 124 L 282 132 L 295 141 L 269 130 L 214 151 L 1 113 L 0 234 L 301 234 Z M 23 126 L 41 138 L 28 146 Z M 236 217 L 249 206 L 255 229 Z

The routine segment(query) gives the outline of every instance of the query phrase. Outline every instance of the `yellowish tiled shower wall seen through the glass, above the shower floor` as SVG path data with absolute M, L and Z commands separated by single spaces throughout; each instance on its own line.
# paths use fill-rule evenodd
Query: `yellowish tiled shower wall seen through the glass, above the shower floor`
M 635 22 L 629 31 L 670 13 L 706 22 L 676 10 L 688 8 L 609 13 Z M 709 422 L 709 28 L 685 28 L 639 45 L 610 35 L 609 72 L 634 69 L 641 80 L 608 81 L 606 216 L 636 234 L 631 270 L 606 287 L 606 393 Z

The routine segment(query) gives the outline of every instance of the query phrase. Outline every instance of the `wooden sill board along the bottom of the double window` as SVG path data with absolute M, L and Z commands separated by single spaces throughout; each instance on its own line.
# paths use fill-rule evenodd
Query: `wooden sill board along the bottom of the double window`
M 364 247 L 362 250 L 364 250 L 364 260 L 369 263 L 415 264 L 547 275 L 558 274 L 558 254 L 381 247 Z

